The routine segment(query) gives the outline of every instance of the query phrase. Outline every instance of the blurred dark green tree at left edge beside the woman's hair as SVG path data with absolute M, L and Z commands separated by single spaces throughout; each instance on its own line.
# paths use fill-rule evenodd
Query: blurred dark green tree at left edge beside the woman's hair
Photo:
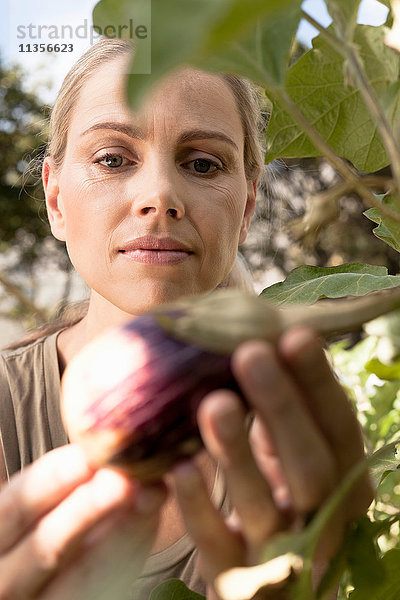
M 6 67 L 0 56 L 1 297 L 8 316 L 29 315 L 27 324 L 36 325 L 50 313 L 36 303 L 35 268 L 46 255 L 62 270 L 70 266 L 64 244 L 51 238 L 40 184 L 48 107 L 23 84 L 21 69 Z

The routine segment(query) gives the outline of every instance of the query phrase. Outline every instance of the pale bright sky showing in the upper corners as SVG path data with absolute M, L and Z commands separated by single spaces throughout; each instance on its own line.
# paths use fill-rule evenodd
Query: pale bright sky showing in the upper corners
M 351 1 L 351 0 L 349 0 Z M 19 63 L 27 73 L 25 85 L 34 88 L 42 100 L 51 104 L 62 80 L 74 62 L 91 45 L 91 13 L 97 0 L 68 0 L 54 3 L 54 0 L 0 0 L 0 11 L 5 18 L 0 22 L 0 53 L 6 63 Z M 305 0 L 303 8 L 317 21 L 326 26 L 330 22 L 325 5 L 321 0 Z M 379 25 L 385 21 L 387 9 L 377 0 L 362 0 L 359 22 Z M 29 29 L 29 25 L 33 28 Z M 40 43 L 54 40 L 38 39 L 38 27 L 56 26 L 58 31 L 64 25 L 73 30 L 73 51 L 45 55 L 41 53 L 21 52 L 23 43 Z M 70 31 L 67 29 L 66 31 Z M 53 29 L 54 30 L 54 29 Z M 46 31 L 43 28 L 42 31 Z M 48 31 L 48 30 L 47 30 Z M 310 45 L 316 35 L 308 23 L 300 24 L 298 36 L 302 42 Z M 58 41 L 58 40 L 57 40 Z M 63 42 L 69 42 L 67 34 Z

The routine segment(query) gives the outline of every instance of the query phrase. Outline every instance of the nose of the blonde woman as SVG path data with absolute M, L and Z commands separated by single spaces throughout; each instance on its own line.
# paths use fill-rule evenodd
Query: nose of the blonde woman
M 135 186 L 135 215 L 182 219 L 185 205 L 180 197 L 180 182 L 175 164 L 170 164 L 167 157 L 153 157 L 147 165 L 143 165 L 141 171 L 141 185 L 139 188 Z

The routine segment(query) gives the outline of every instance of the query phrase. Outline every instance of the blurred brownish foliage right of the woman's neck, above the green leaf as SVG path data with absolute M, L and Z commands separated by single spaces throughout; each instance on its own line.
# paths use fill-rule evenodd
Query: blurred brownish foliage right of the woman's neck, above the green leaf
M 339 181 L 323 158 L 278 160 L 267 167 L 241 246 L 259 291 L 304 264 L 365 262 L 384 265 L 393 275 L 400 272 L 399 253 L 373 235 L 375 224 L 363 215 L 357 194 L 339 202 L 323 196 Z

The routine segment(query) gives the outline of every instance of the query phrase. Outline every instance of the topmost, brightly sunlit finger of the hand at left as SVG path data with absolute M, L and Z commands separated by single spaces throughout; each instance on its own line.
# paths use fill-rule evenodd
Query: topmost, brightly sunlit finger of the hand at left
M 73 444 L 45 454 L 15 475 L 0 493 L 0 554 L 92 475 L 83 451 Z

